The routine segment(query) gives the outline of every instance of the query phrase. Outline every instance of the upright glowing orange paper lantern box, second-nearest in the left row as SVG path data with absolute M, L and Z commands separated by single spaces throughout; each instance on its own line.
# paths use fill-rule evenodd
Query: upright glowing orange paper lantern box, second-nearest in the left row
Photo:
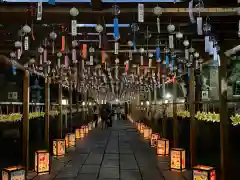
M 38 175 L 49 174 L 50 155 L 47 150 L 39 150 L 35 152 L 35 171 Z

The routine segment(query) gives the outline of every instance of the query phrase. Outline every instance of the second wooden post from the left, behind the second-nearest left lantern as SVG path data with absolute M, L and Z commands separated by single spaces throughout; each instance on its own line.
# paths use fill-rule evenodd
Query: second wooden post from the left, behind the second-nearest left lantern
M 46 148 L 49 150 L 49 109 L 50 109 L 50 79 L 45 78 L 45 116 L 44 116 L 44 142 Z

